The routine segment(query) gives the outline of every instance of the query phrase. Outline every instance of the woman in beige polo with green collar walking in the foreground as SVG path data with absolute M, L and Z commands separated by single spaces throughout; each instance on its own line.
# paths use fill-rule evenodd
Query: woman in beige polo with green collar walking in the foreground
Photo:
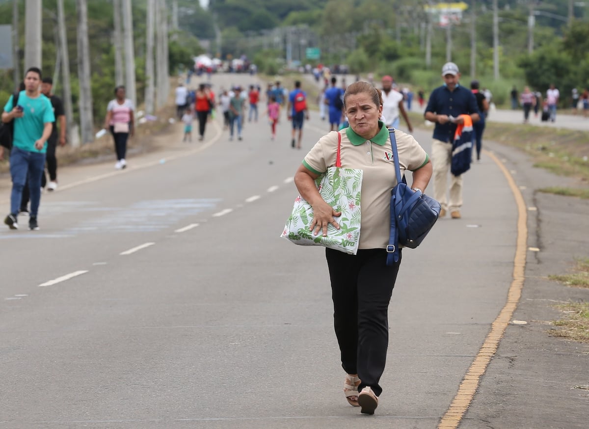
M 391 189 L 396 176 L 389 131 L 379 121 L 380 91 L 368 82 L 355 82 L 346 89 L 343 104 L 350 126 L 320 138 L 305 156 L 294 183 L 313 206 L 313 233 L 327 236 L 327 225 L 339 228 L 335 217 L 340 213 L 322 199 L 315 179 L 335 166 L 339 137 L 342 167 L 364 170 L 358 253 L 326 249 L 325 255 L 335 333 L 346 371 L 343 392 L 350 405 L 362 407 L 363 414 L 373 414 L 382 392 L 379 381 L 389 343 L 388 306 L 401 263 L 399 258 L 395 265 L 386 265 Z M 397 130 L 395 136 L 402 172 L 413 171 L 413 189 L 425 190 L 432 175 L 428 154 L 409 134 Z

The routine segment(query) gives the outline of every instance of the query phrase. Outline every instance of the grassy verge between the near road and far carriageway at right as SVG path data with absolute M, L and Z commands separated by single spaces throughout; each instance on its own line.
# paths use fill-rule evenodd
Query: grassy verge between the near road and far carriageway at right
M 422 114 L 410 113 L 409 115 L 414 126 L 431 129 L 431 126 L 425 125 Z M 487 121 L 484 138 L 516 147 L 530 154 L 534 167 L 581 180 L 588 186 L 587 193 L 589 193 L 589 145 L 585 131 Z M 574 192 L 576 191 L 571 190 L 563 194 L 574 194 Z M 581 192 L 575 196 L 585 194 Z

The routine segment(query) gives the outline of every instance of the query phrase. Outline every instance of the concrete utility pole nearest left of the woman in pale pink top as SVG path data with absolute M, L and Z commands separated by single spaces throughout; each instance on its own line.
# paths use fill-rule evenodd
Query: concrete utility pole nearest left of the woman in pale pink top
M 78 81 L 80 81 L 80 128 L 82 143 L 94 140 L 92 133 L 92 91 L 90 90 L 90 44 L 88 43 L 88 7 L 76 0 L 78 9 Z

